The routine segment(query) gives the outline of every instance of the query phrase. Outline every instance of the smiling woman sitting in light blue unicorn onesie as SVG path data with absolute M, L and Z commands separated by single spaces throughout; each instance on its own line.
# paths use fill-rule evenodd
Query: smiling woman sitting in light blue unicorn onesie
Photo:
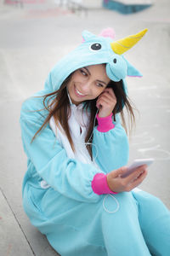
M 124 108 L 134 117 L 125 78 L 140 76 L 122 53 L 145 32 L 113 43 L 83 32 L 84 42 L 57 63 L 44 90 L 22 105 L 23 206 L 62 256 L 169 255 L 169 211 L 133 190 L 147 167 L 122 177 Z

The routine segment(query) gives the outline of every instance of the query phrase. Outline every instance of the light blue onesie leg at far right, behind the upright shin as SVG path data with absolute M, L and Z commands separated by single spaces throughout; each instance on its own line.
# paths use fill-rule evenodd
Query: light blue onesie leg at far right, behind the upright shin
M 144 191 L 133 192 L 139 204 L 139 223 L 150 252 L 170 255 L 170 212 L 155 196 Z

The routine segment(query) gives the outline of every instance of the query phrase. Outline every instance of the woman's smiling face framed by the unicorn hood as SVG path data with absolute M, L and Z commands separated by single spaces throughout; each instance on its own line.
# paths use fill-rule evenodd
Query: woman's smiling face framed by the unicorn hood
M 67 84 L 71 102 L 78 105 L 84 101 L 94 100 L 105 90 L 109 82 L 104 64 L 77 69 Z

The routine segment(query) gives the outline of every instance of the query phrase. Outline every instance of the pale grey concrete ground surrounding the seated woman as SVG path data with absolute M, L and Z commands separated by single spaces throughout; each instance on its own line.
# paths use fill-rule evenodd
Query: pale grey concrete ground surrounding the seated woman
M 88 12 L 76 13 L 52 0 L 27 1 L 24 8 L 0 2 L 0 255 L 58 255 L 23 212 L 26 155 L 20 139 L 20 106 L 42 89 L 54 63 L 81 42 L 83 29 L 98 34 L 111 26 L 116 39 L 149 29 L 125 54 L 144 75 L 127 79 L 129 96 L 140 113 L 130 140 L 130 160 L 156 159 L 140 188 L 170 208 L 170 2 L 154 2 L 133 15 L 102 9 L 100 1 L 87 0 Z

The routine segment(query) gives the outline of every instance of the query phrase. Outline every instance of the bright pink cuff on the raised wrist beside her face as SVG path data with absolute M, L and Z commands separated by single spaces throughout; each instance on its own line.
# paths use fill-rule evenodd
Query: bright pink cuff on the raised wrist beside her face
M 99 114 L 97 114 L 97 120 L 98 120 L 98 127 L 97 130 L 101 132 L 110 131 L 115 127 L 115 125 L 112 122 L 112 113 L 104 118 L 100 118 Z

